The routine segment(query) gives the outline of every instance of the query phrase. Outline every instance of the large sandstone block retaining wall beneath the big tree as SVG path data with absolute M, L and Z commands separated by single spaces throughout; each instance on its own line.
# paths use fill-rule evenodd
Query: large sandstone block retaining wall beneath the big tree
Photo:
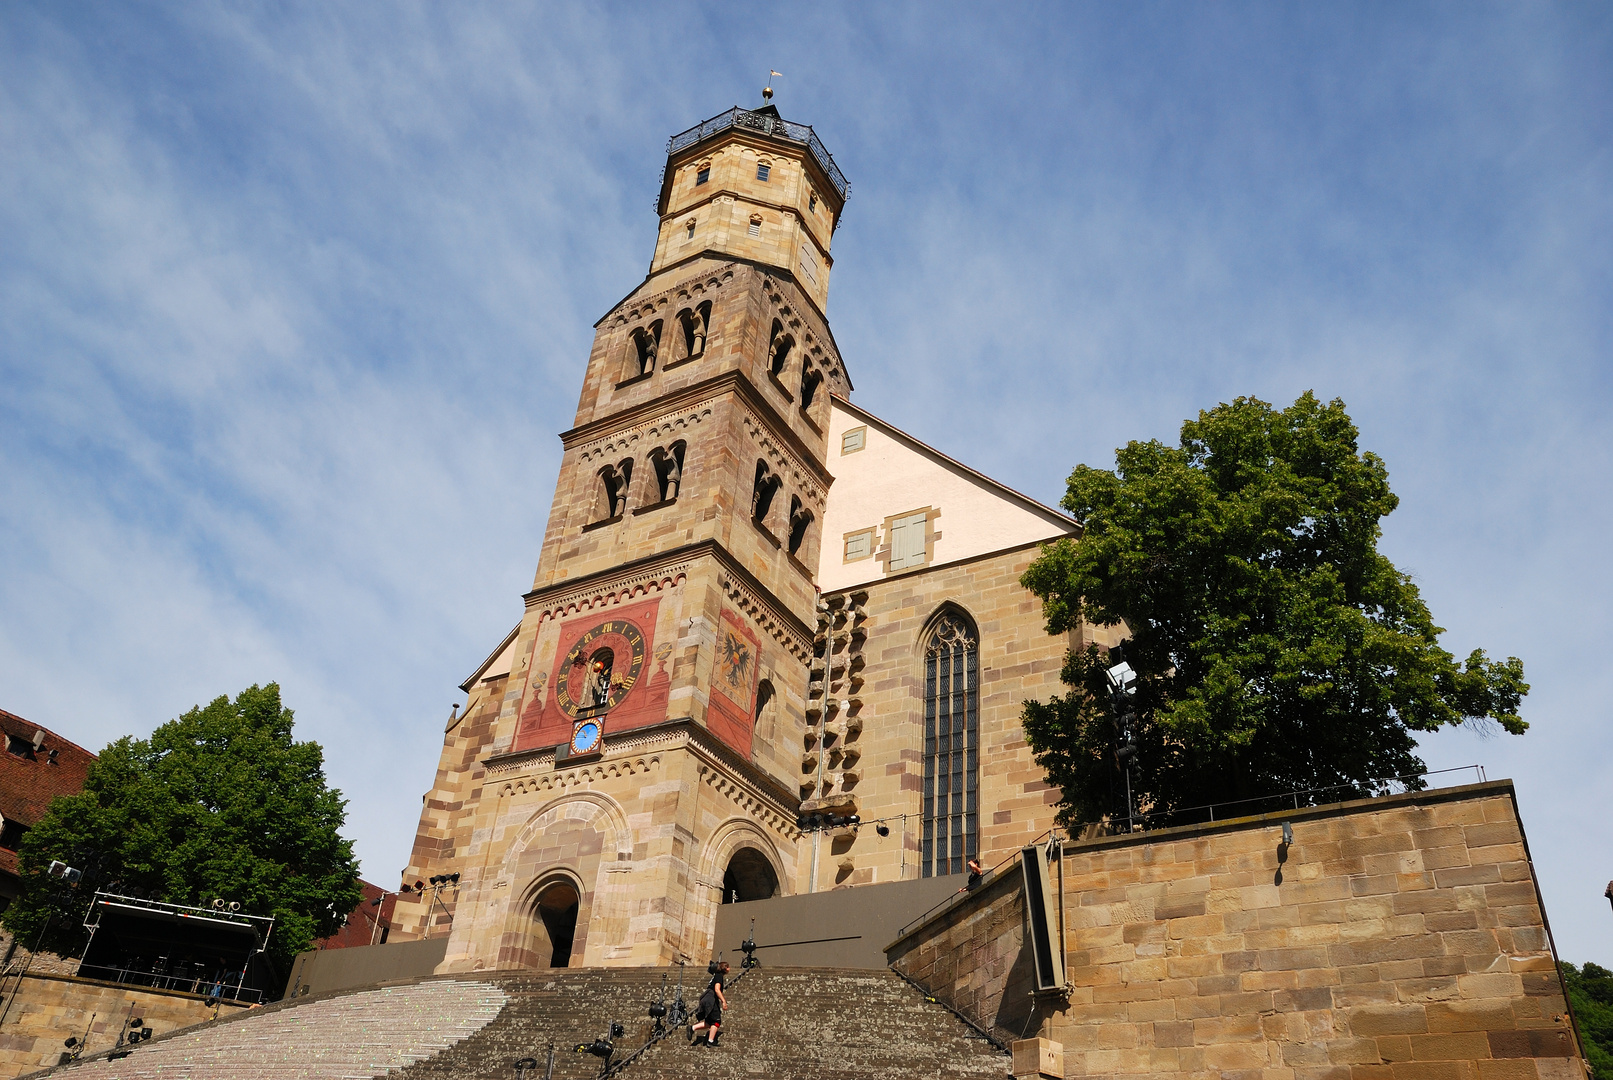
M 1032 1033 L 1066 1075 L 1586 1075 L 1510 782 L 1065 843 L 1063 872 L 1068 1001 Z M 982 933 L 944 912 L 894 962 L 955 949 L 932 990 L 998 1016 L 1023 948 L 992 903 Z

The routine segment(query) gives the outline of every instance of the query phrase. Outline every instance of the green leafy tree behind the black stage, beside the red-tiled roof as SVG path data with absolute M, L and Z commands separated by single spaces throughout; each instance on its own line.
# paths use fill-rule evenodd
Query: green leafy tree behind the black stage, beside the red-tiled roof
M 226 898 L 274 916 L 266 956 L 286 972 L 361 898 L 353 845 L 337 832 L 345 808 L 326 787 L 319 745 L 292 740 L 281 688 L 250 687 L 103 750 L 84 790 L 24 835 L 23 893 L 0 919 L 23 941 L 44 932 L 44 948 L 77 954 L 97 888 L 197 906 Z M 52 859 L 84 880 L 50 877 Z

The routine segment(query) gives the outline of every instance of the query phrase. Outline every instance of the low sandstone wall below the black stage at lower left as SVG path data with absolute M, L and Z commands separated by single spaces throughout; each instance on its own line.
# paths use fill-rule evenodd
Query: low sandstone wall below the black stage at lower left
M 21 980 L 6 980 L 5 990 L 11 1009 L 0 1024 L 0 1078 L 55 1065 L 68 1036 L 85 1040 L 90 1054 L 111 1049 L 131 1017 L 142 1017 L 153 1035 L 161 1035 L 213 1016 L 213 1006 L 202 995 L 73 975 L 31 970 Z M 231 1016 L 245 1006 L 224 1003 L 219 1007 Z

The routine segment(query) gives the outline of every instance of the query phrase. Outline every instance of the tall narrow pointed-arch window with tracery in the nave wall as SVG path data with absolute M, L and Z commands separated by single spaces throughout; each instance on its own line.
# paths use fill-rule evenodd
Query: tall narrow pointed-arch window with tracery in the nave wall
M 924 645 L 924 877 L 963 874 L 979 854 L 979 637 L 947 611 Z

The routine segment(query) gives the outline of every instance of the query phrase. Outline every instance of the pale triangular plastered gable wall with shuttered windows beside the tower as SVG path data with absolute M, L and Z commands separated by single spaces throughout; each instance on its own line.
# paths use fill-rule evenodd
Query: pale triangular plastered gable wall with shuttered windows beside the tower
M 866 427 L 863 448 L 842 453 L 845 432 L 857 427 Z M 890 572 L 900 574 L 1077 530 L 1061 514 L 969 472 L 840 398 L 829 409 L 829 472 L 834 484 L 818 556 L 818 587 L 826 593 L 886 577 L 886 559 L 879 558 L 886 546 L 897 556 Z M 924 509 L 929 521 L 915 521 Z M 897 521 L 887 522 L 892 517 Z M 889 525 L 895 525 L 895 537 Z M 847 563 L 847 534 L 865 529 L 874 530 L 874 556 Z M 927 553 L 926 535 L 934 538 Z

